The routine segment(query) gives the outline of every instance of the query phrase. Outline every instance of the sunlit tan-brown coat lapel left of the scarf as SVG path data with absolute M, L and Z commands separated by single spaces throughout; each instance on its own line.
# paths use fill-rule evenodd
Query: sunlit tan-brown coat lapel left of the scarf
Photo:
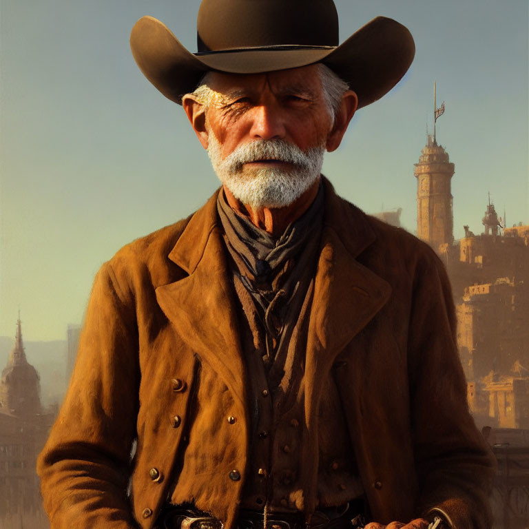
M 217 226 L 216 196 L 191 217 L 169 253 L 189 276 L 158 287 L 156 298 L 183 342 L 243 403 L 245 364 L 231 273 Z

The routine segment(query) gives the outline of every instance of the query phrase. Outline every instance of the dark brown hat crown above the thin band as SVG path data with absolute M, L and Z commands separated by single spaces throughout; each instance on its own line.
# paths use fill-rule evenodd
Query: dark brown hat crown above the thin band
M 198 52 L 278 45 L 338 46 L 333 0 L 203 0 Z

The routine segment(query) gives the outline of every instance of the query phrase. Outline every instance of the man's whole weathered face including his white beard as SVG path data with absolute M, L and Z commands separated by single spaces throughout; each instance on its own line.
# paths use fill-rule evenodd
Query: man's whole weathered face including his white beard
M 202 132 L 186 100 L 184 106 L 222 183 L 252 207 L 293 203 L 320 176 L 325 149 L 338 147 L 329 145 L 333 116 L 318 67 L 211 72 L 207 84 L 212 96 Z

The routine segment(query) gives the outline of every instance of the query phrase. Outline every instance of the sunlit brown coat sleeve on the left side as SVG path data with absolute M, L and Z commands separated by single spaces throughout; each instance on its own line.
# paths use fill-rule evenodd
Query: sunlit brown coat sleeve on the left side
M 132 299 L 104 264 L 70 387 L 37 461 L 52 529 L 138 527 L 127 497 L 139 382 Z

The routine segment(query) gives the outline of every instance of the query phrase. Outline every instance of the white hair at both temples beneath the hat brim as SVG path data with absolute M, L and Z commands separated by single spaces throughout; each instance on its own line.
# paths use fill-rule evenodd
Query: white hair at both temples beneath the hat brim
M 318 74 L 320 74 L 325 102 L 334 122 L 340 110 L 342 96 L 349 90 L 349 85 L 340 76 L 335 74 L 329 66 L 323 63 L 318 63 L 316 66 L 318 67 Z M 200 79 L 196 90 L 190 94 L 200 101 L 206 110 L 216 97 L 216 92 L 209 87 L 210 77 L 211 71 L 206 72 L 203 78 Z

